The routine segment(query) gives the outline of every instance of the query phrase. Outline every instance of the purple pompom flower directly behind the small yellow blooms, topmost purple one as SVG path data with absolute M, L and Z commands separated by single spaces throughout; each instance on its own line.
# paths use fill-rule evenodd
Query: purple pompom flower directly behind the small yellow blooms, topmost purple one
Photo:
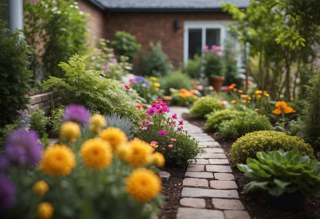
M 62 121 L 73 121 L 79 125 L 87 124 L 89 121 L 89 110 L 83 105 L 70 103 L 64 110 Z

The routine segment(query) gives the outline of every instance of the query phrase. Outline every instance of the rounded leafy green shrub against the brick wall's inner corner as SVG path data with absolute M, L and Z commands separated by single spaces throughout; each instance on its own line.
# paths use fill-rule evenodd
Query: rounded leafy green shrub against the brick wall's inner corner
M 127 56 L 129 62 L 133 63 L 136 52 L 141 48 L 141 44 L 137 43 L 136 37 L 125 31 L 117 31 L 115 38 L 116 40 L 111 41 L 111 45 L 115 49 L 117 58 Z

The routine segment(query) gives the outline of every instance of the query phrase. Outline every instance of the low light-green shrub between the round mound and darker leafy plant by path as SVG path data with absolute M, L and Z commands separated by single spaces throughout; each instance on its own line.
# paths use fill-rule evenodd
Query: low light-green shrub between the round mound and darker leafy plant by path
M 240 111 L 230 109 L 222 109 L 211 112 L 205 116 L 205 127 L 207 129 L 217 129 L 222 121 L 233 119 L 240 113 Z

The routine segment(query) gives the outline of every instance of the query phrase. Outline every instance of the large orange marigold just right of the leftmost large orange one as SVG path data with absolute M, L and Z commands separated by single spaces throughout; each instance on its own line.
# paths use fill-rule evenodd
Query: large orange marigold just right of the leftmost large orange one
M 100 138 L 86 140 L 79 151 L 83 162 L 92 169 L 106 168 L 112 162 L 112 147 L 108 141 Z

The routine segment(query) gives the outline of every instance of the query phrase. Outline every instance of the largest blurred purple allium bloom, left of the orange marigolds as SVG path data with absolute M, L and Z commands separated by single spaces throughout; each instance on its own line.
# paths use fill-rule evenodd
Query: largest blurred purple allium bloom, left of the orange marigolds
M 38 134 L 33 130 L 29 132 L 18 130 L 11 133 L 5 142 L 4 158 L 7 159 L 11 165 L 21 165 L 25 163 L 34 165 L 38 163 L 41 160 L 41 153 L 43 151 L 43 146 L 38 140 L 38 137 Z M 3 163 L 5 163 L 4 160 Z

